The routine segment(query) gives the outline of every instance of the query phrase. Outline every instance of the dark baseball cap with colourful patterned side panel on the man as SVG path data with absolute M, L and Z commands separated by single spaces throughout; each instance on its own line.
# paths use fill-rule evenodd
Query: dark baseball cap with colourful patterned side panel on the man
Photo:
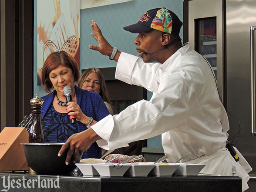
M 124 27 L 131 33 L 142 33 L 148 30 L 159 30 L 168 34 L 179 35 L 182 22 L 177 15 L 166 8 L 148 10 L 143 14 L 137 24 Z

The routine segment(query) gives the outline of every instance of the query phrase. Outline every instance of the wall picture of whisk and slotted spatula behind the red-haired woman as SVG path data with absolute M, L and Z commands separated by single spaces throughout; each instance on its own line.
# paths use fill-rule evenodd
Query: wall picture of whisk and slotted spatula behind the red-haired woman
M 67 51 L 80 68 L 80 0 L 37 0 L 37 85 L 54 51 Z

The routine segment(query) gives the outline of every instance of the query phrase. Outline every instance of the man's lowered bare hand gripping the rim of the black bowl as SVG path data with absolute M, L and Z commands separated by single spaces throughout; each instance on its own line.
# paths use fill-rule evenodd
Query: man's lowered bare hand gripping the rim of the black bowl
M 88 128 L 85 131 L 71 135 L 71 137 L 68 138 L 66 143 L 61 147 L 58 152 L 58 156 L 60 157 L 64 151 L 69 148 L 67 152 L 66 165 L 70 163 L 72 156 L 73 161 L 77 162 L 78 154 L 82 155 L 94 141 L 98 141 L 100 139 L 101 137 L 98 136 L 92 128 Z

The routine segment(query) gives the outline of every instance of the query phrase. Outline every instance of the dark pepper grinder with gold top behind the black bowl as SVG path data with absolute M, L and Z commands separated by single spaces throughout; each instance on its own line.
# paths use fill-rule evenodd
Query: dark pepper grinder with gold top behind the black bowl
M 42 126 L 42 104 L 44 100 L 38 98 L 38 94 L 36 94 L 36 98 L 30 100 L 31 109 L 32 109 L 32 123 L 29 129 L 28 141 L 30 143 L 43 143 L 44 142 L 44 130 Z

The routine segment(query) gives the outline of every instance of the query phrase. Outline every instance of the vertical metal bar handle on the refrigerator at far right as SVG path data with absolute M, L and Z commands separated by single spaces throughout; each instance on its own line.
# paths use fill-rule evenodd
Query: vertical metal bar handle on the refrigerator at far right
M 251 26 L 250 27 L 250 44 L 251 44 L 251 99 L 252 99 L 252 135 L 256 136 L 256 108 L 255 108 L 255 85 L 256 85 L 256 79 L 255 79 L 255 55 L 254 55 L 254 31 L 256 30 L 256 27 Z

